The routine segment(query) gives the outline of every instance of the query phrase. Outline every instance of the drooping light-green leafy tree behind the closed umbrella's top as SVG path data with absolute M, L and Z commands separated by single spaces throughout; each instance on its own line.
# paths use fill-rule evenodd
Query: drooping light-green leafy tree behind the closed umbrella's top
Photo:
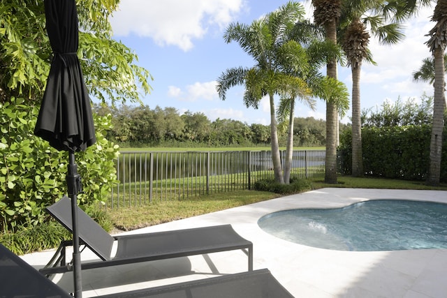
M 110 15 L 119 0 L 78 0 L 78 57 L 89 93 L 101 99 L 138 101 L 152 77 L 138 57 L 111 38 Z M 50 70 L 52 50 L 45 31 L 43 1 L 3 0 L 0 13 L 0 102 L 27 96 L 38 103 Z

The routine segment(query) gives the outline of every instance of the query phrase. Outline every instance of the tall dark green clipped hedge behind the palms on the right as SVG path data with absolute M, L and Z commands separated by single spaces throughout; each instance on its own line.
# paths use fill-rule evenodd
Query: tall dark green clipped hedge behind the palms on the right
M 431 126 L 362 128 L 365 175 L 390 179 L 425 180 L 430 164 Z M 352 172 L 352 131 L 340 136 L 339 170 Z M 447 130 L 443 133 L 441 181 L 447 181 Z

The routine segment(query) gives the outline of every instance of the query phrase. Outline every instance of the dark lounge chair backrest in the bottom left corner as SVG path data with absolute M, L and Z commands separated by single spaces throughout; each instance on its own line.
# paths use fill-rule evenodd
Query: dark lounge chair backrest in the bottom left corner
M 0 244 L 0 297 L 73 298 Z

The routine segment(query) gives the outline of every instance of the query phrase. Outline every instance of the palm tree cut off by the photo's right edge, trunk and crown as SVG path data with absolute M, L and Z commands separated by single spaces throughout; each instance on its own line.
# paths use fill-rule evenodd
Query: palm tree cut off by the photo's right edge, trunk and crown
M 441 174 L 442 131 L 444 129 L 444 110 L 446 109 L 444 52 L 447 45 L 447 1 L 437 1 L 432 21 L 436 24 L 428 33 L 430 39 L 426 43 L 430 47 L 434 61 L 433 124 L 427 184 L 437 186 Z

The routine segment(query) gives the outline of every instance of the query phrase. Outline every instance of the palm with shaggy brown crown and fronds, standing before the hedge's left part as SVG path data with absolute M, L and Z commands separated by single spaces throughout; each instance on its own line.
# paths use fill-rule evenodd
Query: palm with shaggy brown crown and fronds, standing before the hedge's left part
M 368 49 L 370 35 L 379 42 L 391 45 L 400 42 L 404 35 L 399 22 L 391 21 L 389 3 L 383 0 L 344 1 L 342 9 L 342 47 L 347 65 L 352 73 L 352 175 L 361 177 L 362 166 L 362 123 L 360 119 L 360 69 L 363 61 L 373 62 Z M 369 26 L 368 26 L 369 25 Z

